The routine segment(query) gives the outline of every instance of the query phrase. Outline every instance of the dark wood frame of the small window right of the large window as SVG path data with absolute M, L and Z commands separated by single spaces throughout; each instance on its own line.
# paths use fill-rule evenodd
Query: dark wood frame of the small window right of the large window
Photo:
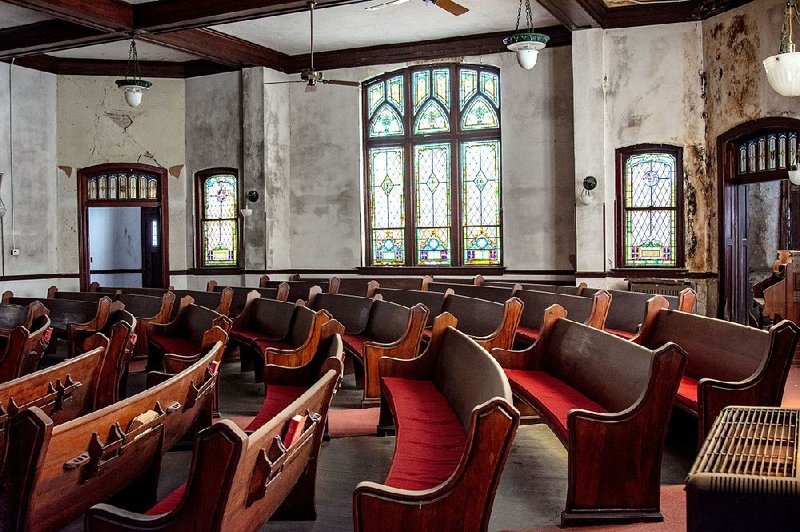
M 614 216 L 615 238 L 614 238 L 614 255 L 615 265 L 620 270 L 630 271 L 639 269 L 636 267 L 625 266 L 625 161 L 628 157 L 640 153 L 666 153 L 675 157 L 675 178 L 677 181 L 677 190 L 675 192 L 676 206 L 669 210 L 675 211 L 675 227 L 677 231 L 675 247 L 673 250 L 675 254 L 675 266 L 658 268 L 643 266 L 643 270 L 680 270 L 686 263 L 686 250 L 684 249 L 684 205 L 683 205 L 683 147 L 673 146 L 670 144 L 636 144 L 634 146 L 626 146 L 617 148 L 615 150 L 616 161 L 616 211 Z

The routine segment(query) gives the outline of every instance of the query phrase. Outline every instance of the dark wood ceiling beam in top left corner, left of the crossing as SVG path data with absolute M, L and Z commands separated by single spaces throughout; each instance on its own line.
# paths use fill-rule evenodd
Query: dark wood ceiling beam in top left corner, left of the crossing
M 133 6 L 117 0 L 4 0 L 61 20 L 103 31 L 130 31 Z

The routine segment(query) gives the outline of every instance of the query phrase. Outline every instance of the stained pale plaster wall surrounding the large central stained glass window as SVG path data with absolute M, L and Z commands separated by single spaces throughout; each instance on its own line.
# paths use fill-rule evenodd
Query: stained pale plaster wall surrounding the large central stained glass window
M 463 61 L 500 68 L 505 265 L 573 268 L 572 78 L 565 68 L 570 49 L 545 49 L 533 71 L 519 68 L 511 53 Z M 328 77 L 363 81 L 404 66 L 341 69 Z M 290 87 L 291 266 L 362 265 L 360 92 Z

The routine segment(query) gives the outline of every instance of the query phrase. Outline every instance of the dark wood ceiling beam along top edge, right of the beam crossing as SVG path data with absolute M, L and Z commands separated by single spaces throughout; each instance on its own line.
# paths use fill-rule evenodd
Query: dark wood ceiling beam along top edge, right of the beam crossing
M 316 8 L 370 0 L 316 0 Z M 134 6 L 134 26 L 149 32 L 216 26 L 308 10 L 306 0 L 161 0 Z

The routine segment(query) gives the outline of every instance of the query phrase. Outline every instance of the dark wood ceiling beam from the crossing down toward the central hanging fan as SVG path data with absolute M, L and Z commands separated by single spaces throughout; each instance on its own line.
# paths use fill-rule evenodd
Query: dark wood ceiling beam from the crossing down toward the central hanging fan
M 270 48 L 210 29 L 142 34 L 139 38 L 180 50 L 228 67 L 265 66 L 284 70 L 289 56 Z

